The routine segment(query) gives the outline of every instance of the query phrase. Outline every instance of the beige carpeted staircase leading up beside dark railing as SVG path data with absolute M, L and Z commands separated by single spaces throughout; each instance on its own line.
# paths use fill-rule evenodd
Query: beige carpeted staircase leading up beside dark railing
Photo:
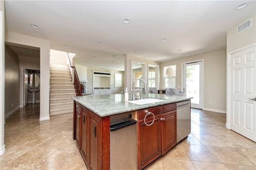
M 73 113 L 76 90 L 67 65 L 50 64 L 50 116 Z

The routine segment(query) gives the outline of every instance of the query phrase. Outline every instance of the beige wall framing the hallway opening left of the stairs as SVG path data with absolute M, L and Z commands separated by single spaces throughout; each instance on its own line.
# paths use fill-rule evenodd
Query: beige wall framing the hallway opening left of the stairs
M 8 43 L 17 43 L 40 48 L 40 121 L 50 119 L 50 41 L 18 34 L 14 32 L 5 32 L 5 41 Z M 22 73 L 23 75 L 23 73 Z M 21 89 L 24 84 L 21 83 Z

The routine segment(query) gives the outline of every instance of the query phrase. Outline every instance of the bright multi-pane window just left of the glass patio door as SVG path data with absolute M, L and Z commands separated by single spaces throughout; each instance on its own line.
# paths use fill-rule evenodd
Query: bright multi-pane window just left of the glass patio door
M 176 88 L 176 65 L 164 67 L 164 88 Z

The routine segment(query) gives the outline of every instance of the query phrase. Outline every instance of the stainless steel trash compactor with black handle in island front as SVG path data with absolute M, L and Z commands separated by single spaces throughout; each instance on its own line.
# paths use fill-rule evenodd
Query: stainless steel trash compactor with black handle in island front
M 137 169 L 136 124 L 133 112 L 110 116 L 110 170 Z

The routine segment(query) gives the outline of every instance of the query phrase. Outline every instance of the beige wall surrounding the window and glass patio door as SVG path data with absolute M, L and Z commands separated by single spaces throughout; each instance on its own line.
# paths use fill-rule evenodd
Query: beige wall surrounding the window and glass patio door
M 176 65 L 176 89 L 181 85 L 182 63 L 204 59 L 204 110 L 226 113 L 226 50 L 194 55 L 182 59 L 166 61 L 165 66 Z M 163 71 L 162 71 L 163 72 Z M 161 83 L 163 82 L 161 74 Z M 180 79 L 180 81 L 179 81 Z M 210 102 L 212 105 L 210 105 Z

